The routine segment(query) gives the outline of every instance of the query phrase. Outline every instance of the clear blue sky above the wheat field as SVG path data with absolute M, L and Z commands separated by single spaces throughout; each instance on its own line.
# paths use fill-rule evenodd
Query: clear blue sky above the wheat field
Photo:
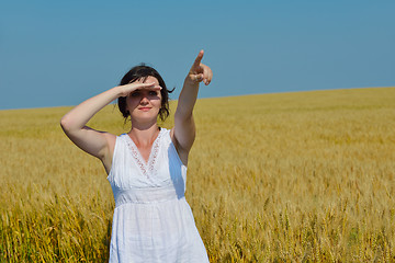
M 1 1 L 0 108 L 76 105 L 133 66 L 177 99 L 395 85 L 395 1 Z

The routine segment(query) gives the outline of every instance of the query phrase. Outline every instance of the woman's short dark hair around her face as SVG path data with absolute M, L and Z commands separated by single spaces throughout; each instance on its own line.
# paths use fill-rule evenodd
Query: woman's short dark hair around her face
M 148 77 L 154 77 L 159 81 L 159 85 L 162 88 L 160 90 L 160 94 L 162 96 L 161 105 L 159 110 L 159 117 L 161 121 L 165 121 L 169 116 L 169 93 L 173 92 L 174 89 L 168 90 L 166 88 L 163 79 L 160 77 L 159 72 L 154 68 L 146 66 L 145 64 L 140 64 L 136 67 L 133 67 L 121 80 L 120 85 L 132 83 L 136 80 L 145 81 Z M 117 100 L 117 105 L 120 112 L 126 119 L 131 114 L 126 111 L 126 98 L 120 96 Z

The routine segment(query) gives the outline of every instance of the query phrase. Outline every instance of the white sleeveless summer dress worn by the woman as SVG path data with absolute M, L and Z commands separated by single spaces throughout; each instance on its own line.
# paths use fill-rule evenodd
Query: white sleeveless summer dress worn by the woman
M 115 198 L 111 263 L 208 262 L 169 129 L 160 129 L 148 163 L 127 134 L 117 136 L 108 180 Z

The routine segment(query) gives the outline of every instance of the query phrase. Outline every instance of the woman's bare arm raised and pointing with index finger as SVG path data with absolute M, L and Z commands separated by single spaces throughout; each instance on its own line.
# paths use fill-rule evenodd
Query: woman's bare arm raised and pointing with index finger
M 203 81 L 207 85 L 213 78 L 211 68 L 201 64 L 203 55 L 204 52 L 201 50 L 185 78 L 174 114 L 172 137 L 181 161 L 184 164 L 188 162 L 188 153 L 195 138 L 195 125 L 192 113 L 198 98 L 199 83 Z

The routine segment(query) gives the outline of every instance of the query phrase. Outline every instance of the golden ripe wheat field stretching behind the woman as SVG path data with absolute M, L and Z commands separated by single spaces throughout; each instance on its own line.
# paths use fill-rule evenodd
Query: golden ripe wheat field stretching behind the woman
M 0 262 L 108 261 L 111 186 L 63 134 L 69 110 L 0 111 Z M 395 262 L 395 88 L 202 99 L 194 117 L 211 262 Z M 129 128 L 114 105 L 89 125 Z

